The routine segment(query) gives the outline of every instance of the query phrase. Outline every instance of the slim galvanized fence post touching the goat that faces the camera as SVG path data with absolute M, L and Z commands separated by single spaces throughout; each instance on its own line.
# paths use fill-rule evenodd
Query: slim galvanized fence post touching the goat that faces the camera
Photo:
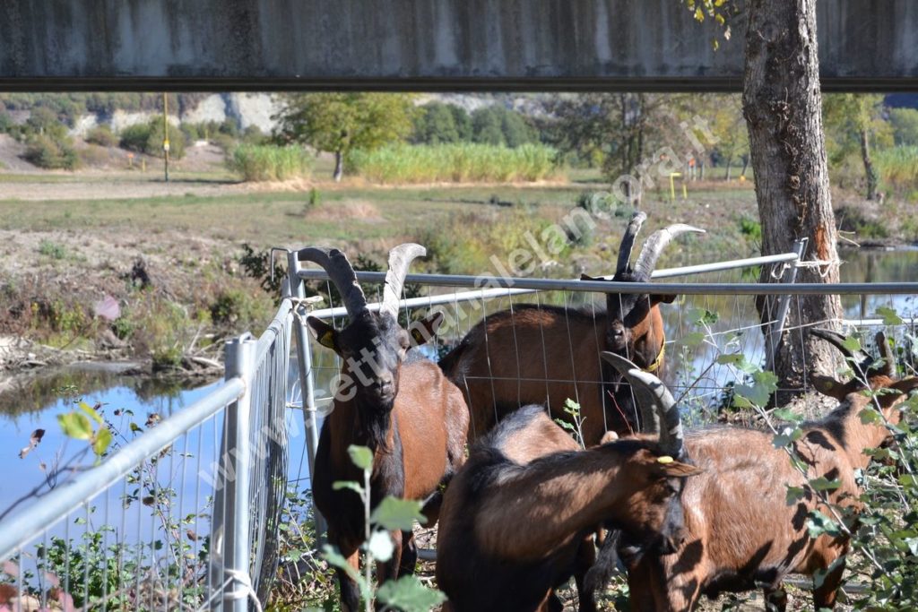
M 290 293 L 297 299 L 306 297 L 306 284 L 299 277 L 300 265 L 296 250 L 287 252 L 287 273 L 290 279 Z M 301 314 L 306 315 L 305 306 Z M 303 423 L 306 428 L 306 450 L 309 455 L 309 487 L 316 471 L 316 451 L 319 448 L 319 421 L 316 417 L 316 393 L 312 379 L 312 347 L 309 344 L 309 335 L 303 317 L 294 317 L 293 327 L 297 338 L 297 366 L 299 367 L 299 386 L 303 392 Z M 316 520 L 316 539 L 319 541 L 325 533 L 325 519 L 319 514 L 316 506 L 312 506 L 313 517 Z

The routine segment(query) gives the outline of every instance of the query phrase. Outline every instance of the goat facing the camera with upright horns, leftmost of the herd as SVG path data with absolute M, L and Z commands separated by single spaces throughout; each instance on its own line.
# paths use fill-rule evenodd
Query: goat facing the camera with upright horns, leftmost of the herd
M 322 425 L 313 476 L 316 507 L 329 525 L 329 542 L 354 568 L 364 542 L 364 506 L 350 490 L 334 490 L 337 481 L 363 482 L 348 454 L 352 444 L 374 452 L 370 477 L 371 504 L 386 495 L 428 500 L 424 515 L 437 520 L 442 484 L 465 461 L 468 409 L 462 393 L 437 364 L 409 351 L 410 342 L 429 339 L 442 321 L 437 314 L 409 332 L 397 322 L 398 299 L 409 264 L 424 254 L 417 244 L 389 252 L 389 270 L 378 313 L 367 308 L 351 263 L 340 250 L 303 249 L 300 261 L 322 266 L 341 293 L 350 321 L 336 330 L 317 318 L 308 325 L 319 343 L 341 356 L 341 375 L 334 406 Z M 392 559 L 377 566 L 382 584 L 400 573 L 413 573 L 417 561 L 410 531 L 392 534 Z M 338 571 L 341 608 L 358 609 L 357 585 Z

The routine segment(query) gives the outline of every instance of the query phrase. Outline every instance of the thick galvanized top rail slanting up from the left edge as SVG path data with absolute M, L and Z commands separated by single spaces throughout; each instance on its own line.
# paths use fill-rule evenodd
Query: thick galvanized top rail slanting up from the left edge
M 144 462 L 221 409 L 241 397 L 245 383 L 233 378 L 206 397 L 162 420 L 155 428 L 130 441 L 101 465 L 77 475 L 72 482 L 61 484 L 39 503 L 23 508 L 4 520 L 0 530 L 0 560 L 6 560 L 17 549 L 34 538 L 36 533 L 66 517 L 68 513 L 92 499 Z

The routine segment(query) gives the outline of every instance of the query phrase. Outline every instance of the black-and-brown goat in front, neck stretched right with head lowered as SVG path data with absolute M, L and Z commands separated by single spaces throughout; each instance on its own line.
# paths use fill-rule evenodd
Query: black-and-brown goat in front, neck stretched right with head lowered
M 554 588 L 572 575 L 579 609 L 595 610 L 583 582 L 600 524 L 635 543 L 680 539 L 681 512 L 671 506 L 679 479 L 698 469 L 673 461 L 679 442 L 663 433 L 578 451 L 543 406 L 502 420 L 473 446 L 444 495 L 437 534 L 444 612 L 560 610 Z

